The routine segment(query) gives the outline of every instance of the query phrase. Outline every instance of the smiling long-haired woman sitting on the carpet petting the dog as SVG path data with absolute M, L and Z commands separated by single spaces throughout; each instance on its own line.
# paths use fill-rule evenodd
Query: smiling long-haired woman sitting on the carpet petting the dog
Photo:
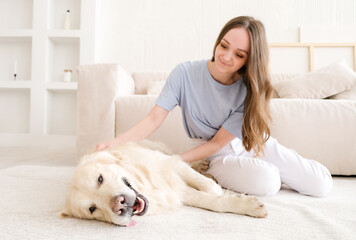
M 118 138 L 98 144 L 97 151 L 147 137 L 179 105 L 192 139 L 181 158 L 210 160 L 208 173 L 221 186 L 271 196 L 285 183 L 305 195 L 327 195 L 333 185 L 328 169 L 270 137 L 271 91 L 263 24 L 234 18 L 221 30 L 211 60 L 179 64 L 151 112 Z

